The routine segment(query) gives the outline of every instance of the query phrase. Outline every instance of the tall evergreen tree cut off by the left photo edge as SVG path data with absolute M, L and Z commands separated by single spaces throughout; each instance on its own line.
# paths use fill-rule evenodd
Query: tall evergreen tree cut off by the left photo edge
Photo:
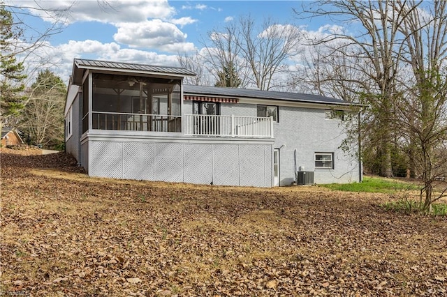
M 27 75 L 14 52 L 14 43 L 21 35 L 13 15 L 0 3 L 0 130 L 10 116 L 17 116 L 24 107 L 23 80 Z

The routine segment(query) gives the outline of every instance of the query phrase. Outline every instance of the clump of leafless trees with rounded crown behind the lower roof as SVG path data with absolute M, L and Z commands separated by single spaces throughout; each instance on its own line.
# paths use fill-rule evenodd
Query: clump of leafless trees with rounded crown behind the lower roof
M 240 17 L 208 34 L 209 40 L 203 42 L 206 53 L 203 57 L 217 82 L 225 82 L 223 76 L 233 69 L 235 75 L 229 76 L 226 85 L 284 89 L 291 75 L 288 62 L 302 48 L 301 36 L 300 29 L 290 24 L 266 20 L 257 26 L 253 18 Z

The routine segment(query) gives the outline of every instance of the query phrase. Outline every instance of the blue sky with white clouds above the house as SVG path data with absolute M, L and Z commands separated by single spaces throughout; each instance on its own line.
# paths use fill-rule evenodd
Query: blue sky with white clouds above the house
M 206 39 L 208 32 L 240 16 L 251 15 L 259 23 L 270 17 L 279 24 L 293 24 L 316 33 L 325 25 L 334 25 L 315 19 L 299 20 L 293 8 L 300 9 L 302 3 L 108 0 L 106 6 L 100 7 L 96 0 L 6 0 L 6 5 L 19 7 L 15 11 L 34 15 L 21 15 L 29 24 L 28 36 L 38 36 L 36 31 L 61 24 L 54 23 L 54 18 L 49 18 L 52 15 L 32 8 L 71 6 L 69 14 L 57 18 L 64 20 L 61 32 L 48 38 L 45 47 L 36 52 L 41 59 L 36 63 L 54 70 L 64 81 L 68 81 L 74 58 L 176 66 L 178 52 L 200 52 L 200 40 Z M 312 5 L 310 1 L 304 3 Z

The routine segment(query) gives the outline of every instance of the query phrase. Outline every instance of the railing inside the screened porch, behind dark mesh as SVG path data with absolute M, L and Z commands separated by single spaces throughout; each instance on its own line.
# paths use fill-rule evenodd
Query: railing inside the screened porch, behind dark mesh
M 91 127 L 98 130 L 182 132 L 182 116 L 92 112 Z

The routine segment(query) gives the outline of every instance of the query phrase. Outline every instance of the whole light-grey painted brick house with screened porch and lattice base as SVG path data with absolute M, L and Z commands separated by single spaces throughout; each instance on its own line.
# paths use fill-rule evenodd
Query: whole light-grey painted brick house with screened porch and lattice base
M 257 187 L 360 181 L 355 153 L 340 148 L 355 105 L 184 85 L 191 75 L 184 68 L 75 59 L 66 151 L 90 176 Z

